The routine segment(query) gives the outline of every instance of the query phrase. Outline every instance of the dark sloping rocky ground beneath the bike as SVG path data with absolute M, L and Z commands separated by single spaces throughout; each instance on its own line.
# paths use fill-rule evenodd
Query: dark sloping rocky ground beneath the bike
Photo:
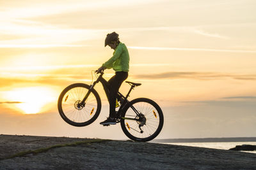
M 256 169 L 256 154 L 133 141 L 0 135 L 0 169 Z

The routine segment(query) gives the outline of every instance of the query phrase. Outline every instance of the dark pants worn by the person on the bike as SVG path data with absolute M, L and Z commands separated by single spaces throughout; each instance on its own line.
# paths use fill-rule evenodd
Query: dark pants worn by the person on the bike
M 108 87 L 109 87 L 109 117 L 115 117 L 115 108 L 116 108 L 116 97 L 117 92 L 122 85 L 123 81 L 127 79 L 128 72 L 125 71 L 116 71 L 115 76 L 111 77 L 108 81 Z

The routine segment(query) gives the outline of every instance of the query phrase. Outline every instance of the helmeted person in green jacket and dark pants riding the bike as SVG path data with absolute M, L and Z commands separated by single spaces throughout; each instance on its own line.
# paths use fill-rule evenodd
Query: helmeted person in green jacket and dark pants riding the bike
M 105 46 L 110 46 L 111 49 L 115 50 L 113 57 L 108 61 L 104 62 L 101 67 L 97 70 L 97 73 L 104 71 L 104 69 L 113 68 L 115 75 L 108 81 L 109 85 L 109 117 L 107 120 L 100 122 L 101 125 L 115 125 L 115 107 L 116 97 L 120 86 L 123 81 L 127 79 L 129 72 L 129 52 L 124 43 L 121 43 L 116 32 L 108 34 L 105 39 Z

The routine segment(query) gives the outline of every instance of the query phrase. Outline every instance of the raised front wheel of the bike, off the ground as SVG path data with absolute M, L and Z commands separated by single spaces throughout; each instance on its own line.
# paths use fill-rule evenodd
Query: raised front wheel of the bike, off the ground
M 58 110 L 61 118 L 68 124 L 77 127 L 86 126 L 92 124 L 99 116 L 101 102 L 95 89 L 92 89 L 85 104 L 81 104 L 89 89 L 90 85 L 75 83 L 61 92 L 58 99 Z

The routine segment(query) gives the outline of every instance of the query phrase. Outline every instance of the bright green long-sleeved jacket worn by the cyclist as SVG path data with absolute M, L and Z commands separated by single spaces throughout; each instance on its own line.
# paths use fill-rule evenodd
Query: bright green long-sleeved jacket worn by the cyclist
M 124 43 L 119 43 L 116 46 L 116 49 L 113 53 L 113 57 L 111 57 L 107 62 L 102 64 L 102 67 L 105 69 L 113 68 L 115 71 L 129 71 L 129 52 Z

